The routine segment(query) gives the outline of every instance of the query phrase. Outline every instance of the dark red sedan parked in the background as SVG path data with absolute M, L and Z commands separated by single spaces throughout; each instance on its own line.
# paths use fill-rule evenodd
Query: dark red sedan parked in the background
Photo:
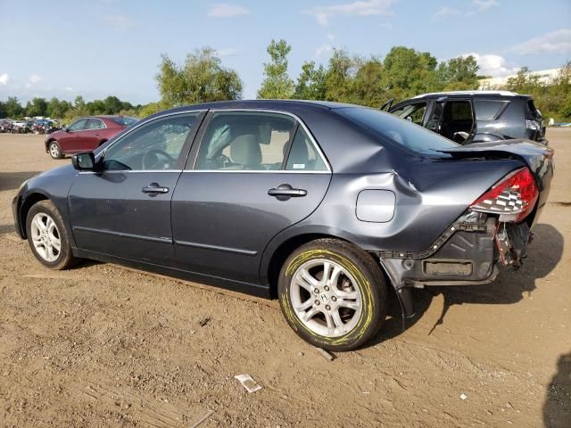
M 66 154 L 91 152 L 137 119 L 127 116 L 89 116 L 46 136 L 46 152 L 54 159 Z

